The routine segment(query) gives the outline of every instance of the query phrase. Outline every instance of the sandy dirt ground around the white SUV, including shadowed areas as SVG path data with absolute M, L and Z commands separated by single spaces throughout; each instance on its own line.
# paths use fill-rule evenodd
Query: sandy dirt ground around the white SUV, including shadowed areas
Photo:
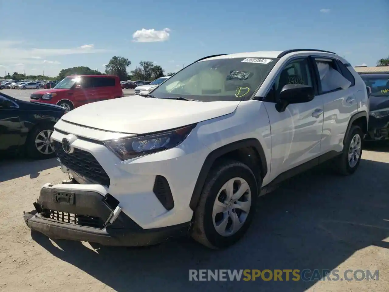
M 316 169 L 261 198 L 248 234 L 228 250 L 190 239 L 147 248 L 55 242 L 28 229 L 23 211 L 58 162 L 0 162 L 0 291 L 389 291 L 389 148 L 363 152 L 358 171 Z M 189 282 L 189 269 L 379 270 L 378 281 Z

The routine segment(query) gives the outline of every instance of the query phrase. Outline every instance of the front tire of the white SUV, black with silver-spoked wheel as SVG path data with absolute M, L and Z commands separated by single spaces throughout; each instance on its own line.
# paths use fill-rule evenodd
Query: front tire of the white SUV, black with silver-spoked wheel
M 230 204 L 223 204 L 223 208 L 219 209 L 223 210 L 223 213 L 214 212 L 214 206 L 217 204 L 216 199 L 218 199 L 219 202 L 228 202 L 226 192 L 223 188 L 225 188 L 228 182 L 231 183 L 231 181 L 233 181 L 234 187 L 238 186 L 238 190 L 242 186 L 248 187 L 249 192 L 245 192 L 240 199 L 235 201 L 239 201 L 240 203 L 246 201 L 247 204 L 247 202 L 251 200 L 251 204 L 249 204 L 249 206 L 246 205 L 248 212 L 244 212 L 242 209 L 238 208 L 234 209 L 234 205 L 231 206 L 231 202 L 233 204 L 234 201 L 230 201 Z M 193 228 L 191 230 L 192 238 L 212 249 L 227 248 L 228 246 L 235 244 L 244 236 L 252 222 L 252 218 L 256 211 L 258 188 L 260 188 L 261 185 L 262 182 L 259 181 L 257 183 L 251 169 L 238 161 L 228 160 L 211 169 L 203 186 L 200 201 L 195 211 Z M 224 208 L 224 205 L 226 208 Z M 239 222 L 243 221 L 243 224 L 240 225 L 240 228 L 236 229 L 235 232 L 231 219 L 234 216 L 238 216 Z M 224 234 L 216 230 L 216 226 L 221 227 L 223 224 L 218 224 L 219 222 L 226 222 L 226 228 L 219 228 L 219 231 L 224 230 Z

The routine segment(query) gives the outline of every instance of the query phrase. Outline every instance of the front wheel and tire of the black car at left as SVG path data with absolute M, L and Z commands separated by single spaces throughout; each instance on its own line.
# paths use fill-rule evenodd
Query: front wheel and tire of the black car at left
M 28 157 L 33 159 L 47 159 L 55 157 L 54 147 L 46 142 L 50 141 L 50 136 L 54 130 L 53 126 L 54 125 L 51 124 L 43 124 L 32 129 L 32 132 L 30 132 L 26 141 Z

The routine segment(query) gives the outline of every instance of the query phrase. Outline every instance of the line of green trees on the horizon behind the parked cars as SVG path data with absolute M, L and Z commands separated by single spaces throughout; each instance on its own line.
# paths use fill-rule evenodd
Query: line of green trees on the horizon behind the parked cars
M 174 73 L 165 74 L 165 70 L 155 65 L 150 61 L 140 61 L 139 65 L 132 71 L 128 72 L 127 68 L 131 65 L 131 61 L 121 56 L 113 56 L 111 60 L 105 65 L 104 72 L 90 69 L 89 67 L 79 66 L 73 68 L 62 69 L 57 77 L 48 77 L 44 75 L 25 75 L 18 72 L 13 72 L 11 75 L 4 76 L 4 79 L 12 80 L 62 80 L 69 75 L 116 75 L 120 81 L 126 80 L 144 80 L 152 81 L 162 76 L 171 76 Z

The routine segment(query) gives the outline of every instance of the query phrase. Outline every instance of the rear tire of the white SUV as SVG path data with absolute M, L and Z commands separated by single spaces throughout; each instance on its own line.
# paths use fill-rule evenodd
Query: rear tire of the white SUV
M 358 142 L 359 141 L 359 142 Z M 353 146 L 352 162 L 349 159 L 350 147 Z M 359 150 L 358 150 L 359 149 Z M 361 162 L 363 149 L 363 132 L 359 126 L 352 125 L 349 135 L 346 137 L 343 152 L 335 160 L 335 172 L 336 174 L 347 176 L 353 174 Z M 358 155 L 359 153 L 359 155 Z

